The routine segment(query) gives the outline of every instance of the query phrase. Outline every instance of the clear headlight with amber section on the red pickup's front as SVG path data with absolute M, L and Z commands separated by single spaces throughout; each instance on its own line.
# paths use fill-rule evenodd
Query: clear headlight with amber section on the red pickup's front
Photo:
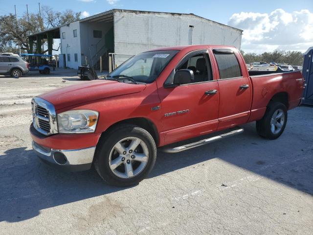
M 91 133 L 97 125 L 99 113 L 92 110 L 70 110 L 58 114 L 59 133 Z

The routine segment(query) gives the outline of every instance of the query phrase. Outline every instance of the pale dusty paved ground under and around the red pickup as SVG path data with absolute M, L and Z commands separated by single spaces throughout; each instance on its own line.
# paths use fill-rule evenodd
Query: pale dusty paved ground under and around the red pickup
M 148 179 L 114 188 L 31 150 L 31 97 L 82 82 L 75 72 L 0 76 L 0 234 L 312 234 L 313 108 L 290 111 L 278 140 L 250 123 L 237 137 L 159 152 Z

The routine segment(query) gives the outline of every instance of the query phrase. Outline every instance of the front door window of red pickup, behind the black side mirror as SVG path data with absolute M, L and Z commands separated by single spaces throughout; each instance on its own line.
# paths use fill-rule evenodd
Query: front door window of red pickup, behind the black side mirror
M 194 83 L 213 80 L 211 64 L 207 54 L 201 53 L 193 55 L 185 63 L 179 66 L 176 71 L 182 69 L 188 69 L 194 72 Z

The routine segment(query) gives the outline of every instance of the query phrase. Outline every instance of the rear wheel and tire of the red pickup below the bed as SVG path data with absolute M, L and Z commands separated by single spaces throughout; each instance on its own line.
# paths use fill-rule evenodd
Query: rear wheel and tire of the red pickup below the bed
M 264 117 L 256 121 L 257 133 L 263 138 L 275 140 L 284 132 L 287 118 L 287 108 L 284 104 L 270 102 Z

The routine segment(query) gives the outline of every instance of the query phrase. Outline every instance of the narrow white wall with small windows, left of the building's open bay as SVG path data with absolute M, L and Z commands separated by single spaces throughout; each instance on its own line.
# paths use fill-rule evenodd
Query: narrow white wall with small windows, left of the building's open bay
M 73 30 L 77 29 L 77 37 L 74 38 Z M 62 33 L 65 32 L 65 39 Z M 65 25 L 60 28 L 61 53 L 66 54 L 66 65 L 68 68 L 78 69 L 81 65 L 81 44 L 80 44 L 80 27 L 79 21 Z M 77 62 L 74 54 L 77 53 Z M 70 54 L 70 61 L 67 61 L 67 54 Z

